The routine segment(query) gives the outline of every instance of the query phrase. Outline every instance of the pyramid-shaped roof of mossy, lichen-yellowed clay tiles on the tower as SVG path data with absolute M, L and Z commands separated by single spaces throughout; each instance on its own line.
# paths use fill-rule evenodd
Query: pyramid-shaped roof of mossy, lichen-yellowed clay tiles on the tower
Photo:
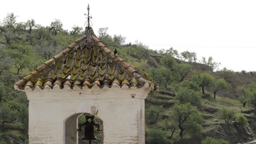
M 15 83 L 15 89 L 141 88 L 155 90 L 156 83 L 96 38 L 92 28 L 59 55 Z

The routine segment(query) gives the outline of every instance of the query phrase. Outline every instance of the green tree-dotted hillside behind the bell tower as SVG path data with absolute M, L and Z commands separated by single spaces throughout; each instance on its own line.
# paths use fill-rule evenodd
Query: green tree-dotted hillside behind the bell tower
M 28 101 L 13 85 L 83 35 L 55 20 L 17 22 L 8 14 L 0 25 L 0 143 L 28 143 Z M 212 57 L 197 63 L 195 52 L 150 50 L 122 35 L 98 30 L 110 50 L 158 83 L 146 99 L 146 143 L 238 143 L 256 131 L 255 73 L 218 69 Z M 83 121 L 83 119 L 80 119 Z M 252 130 L 253 131 L 252 131 Z M 223 139 L 223 140 L 218 140 Z M 82 143 L 82 142 L 80 142 Z

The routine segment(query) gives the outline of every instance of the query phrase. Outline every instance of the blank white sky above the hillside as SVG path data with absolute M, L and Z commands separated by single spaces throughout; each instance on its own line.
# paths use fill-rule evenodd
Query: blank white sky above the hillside
M 8 13 L 18 22 L 34 19 L 49 26 L 61 20 L 65 29 L 84 28 L 90 3 L 93 28 L 108 27 L 108 33 L 124 35 L 150 49 L 173 49 L 212 56 L 222 67 L 256 71 L 255 0 L 8 0 L 1 1 L 0 21 Z

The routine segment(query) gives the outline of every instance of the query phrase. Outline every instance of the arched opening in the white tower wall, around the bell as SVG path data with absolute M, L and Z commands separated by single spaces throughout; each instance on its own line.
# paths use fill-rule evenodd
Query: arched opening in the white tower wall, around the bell
M 86 116 L 94 116 L 94 123 L 99 124 L 100 131 L 97 131 L 97 126 L 94 126 L 94 135 L 97 140 L 91 140 L 91 143 L 103 144 L 103 121 L 101 118 L 92 115 L 91 113 L 75 113 L 68 117 L 65 122 L 65 143 L 66 144 L 89 144 L 89 140 L 82 140 L 85 134 Z M 88 119 L 91 122 L 91 119 Z M 84 125 L 85 124 L 85 125 Z M 82 127 L 79 127 L 82 125 Z M 78 129 L 82 131 L 78 131 Z

